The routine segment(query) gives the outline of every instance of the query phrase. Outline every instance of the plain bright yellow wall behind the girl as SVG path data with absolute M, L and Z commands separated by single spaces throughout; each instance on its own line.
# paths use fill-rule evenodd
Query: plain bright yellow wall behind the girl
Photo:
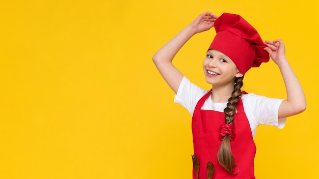
M 283 39 L 307 110 L 284 129 L 260 126 L 257 178 L 319 178 L 318 1 L 1 1 L 0 178 L 191 178 L 191 116 L 152 55 L 200 13 L 242 15 L 263 40 Z M 215 31 L 175 65 L 206 84 Z M 285 98 L 271 61 L 244 90 Z

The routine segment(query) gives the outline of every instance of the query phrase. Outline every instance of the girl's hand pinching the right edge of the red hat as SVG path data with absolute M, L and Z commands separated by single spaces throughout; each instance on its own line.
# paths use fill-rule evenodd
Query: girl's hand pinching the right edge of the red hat
M 281 39 L 276 39 L 274 41 L 265 41 L 264 43 L 267 47 L 263 48 L 266 50 L 273 61 L 278 65 L 281 59 L 286 59 L 285 55 L 285 45 Z

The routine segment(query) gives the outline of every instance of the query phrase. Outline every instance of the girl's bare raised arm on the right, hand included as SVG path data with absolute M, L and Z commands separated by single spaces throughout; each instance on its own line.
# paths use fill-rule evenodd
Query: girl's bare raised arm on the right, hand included
M 282 40 L 265 41 L 265 44 L 268 47 L 264 49 L 279 67 L 287 92 L 287 99 L 279 106 L 278 117 L 288 117 L 303 112 L 306 110 L 306 97 L 297 76 L 286 59 Z

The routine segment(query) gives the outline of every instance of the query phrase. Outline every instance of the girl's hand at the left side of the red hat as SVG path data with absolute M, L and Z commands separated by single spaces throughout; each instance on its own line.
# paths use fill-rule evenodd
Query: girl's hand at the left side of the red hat
M 195 29 L 195 33 L 201 33 L 214 27 L 217 18 L 217 15 L 207 11 L 200 14 L 190 25 Z

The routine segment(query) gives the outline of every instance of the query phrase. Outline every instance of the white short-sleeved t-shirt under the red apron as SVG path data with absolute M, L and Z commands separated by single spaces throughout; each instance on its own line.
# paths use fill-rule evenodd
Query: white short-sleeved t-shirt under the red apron
M 184 106 L 193 116 L 197 102 L 207 93 L 208 90 L 203 90 L 183 77 L 174 102 Z M 258 125 L 270 125 L 279 129 L 284 127 L 286 118 L 278 118 L 279 105 L 283 99 L 267 98 L 250 93 L 243 94 L 242 100 L 253 137 Z M 209 95 L 201 109 L 224 112 L 226 104 L 212 102 Z

